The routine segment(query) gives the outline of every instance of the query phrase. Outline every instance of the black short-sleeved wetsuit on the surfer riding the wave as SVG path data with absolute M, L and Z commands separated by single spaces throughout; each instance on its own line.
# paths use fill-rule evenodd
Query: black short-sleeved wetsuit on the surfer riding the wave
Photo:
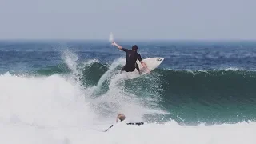
M 131 72 L 134 71 L 136 68 L 138 71 L 140 71 L 136 61 L 137 59 L 139 61 L 142 61 L 141 55 L 134 50 L 128 50 L 125 48 L 122 48 L 121 50 L 126 52 L 126 65 L 122 67 L 122 70 L 126 72 Z

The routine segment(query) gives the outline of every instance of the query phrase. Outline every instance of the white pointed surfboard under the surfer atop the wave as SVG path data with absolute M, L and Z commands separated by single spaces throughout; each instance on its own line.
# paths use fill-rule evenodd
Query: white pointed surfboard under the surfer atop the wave
M 146 63 L 146 66 L 150 71 L 157 68 L 162 63 L 163 60 L 164 60 L 164 58 L 146 58 L 146 59 L 142 59 L 142 61 Z M 138 63 L 139 69 L 142 70 L 141 62 L 139 62 L 137 60 L 137 63 Z M 126 74 L 126 78 L 128 78 L 128 79 L 138 78 L 138 77 L 140 77 L 144 74 L 147 74 L 147 73 L 148 73 L 147 70 L 142 70 L 142 74 L 139 74 L 137 69 L 135 69 L 133 72 L 122 71 L 122 74 Z

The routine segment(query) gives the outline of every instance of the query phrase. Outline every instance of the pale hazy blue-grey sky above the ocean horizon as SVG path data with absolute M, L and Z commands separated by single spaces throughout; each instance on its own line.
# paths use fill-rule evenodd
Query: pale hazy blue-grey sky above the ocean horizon
M 255 0 L 2 0 L 0 38 L 256 39 Z

